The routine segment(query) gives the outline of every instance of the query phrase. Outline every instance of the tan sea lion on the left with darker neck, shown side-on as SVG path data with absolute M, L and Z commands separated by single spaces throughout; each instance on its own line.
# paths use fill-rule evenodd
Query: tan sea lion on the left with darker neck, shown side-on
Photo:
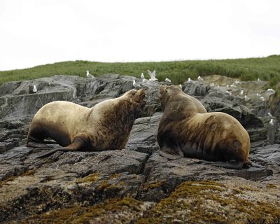
M 146 104 L 144 97 L 145 90 L 130 90 L 92 108 L 64 101 L 45 104 L 31 122 L 27 146 L 42 147 L 47 138 L 62 146 L 39 157 L 56 151 L 123 149 L 134 120 Z

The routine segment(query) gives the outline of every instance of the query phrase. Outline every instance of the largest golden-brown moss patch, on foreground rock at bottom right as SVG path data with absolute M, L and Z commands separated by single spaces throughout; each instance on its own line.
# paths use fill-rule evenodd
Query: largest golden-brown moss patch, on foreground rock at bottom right
M 279 204 L 251 202 L 241 195 L 241 190 L 215 181 L 186 181 L 138 223 L 172 223 L 176 219 L 182 223 L 235 223 L 237 220 L 272 223 L 280 220 Z

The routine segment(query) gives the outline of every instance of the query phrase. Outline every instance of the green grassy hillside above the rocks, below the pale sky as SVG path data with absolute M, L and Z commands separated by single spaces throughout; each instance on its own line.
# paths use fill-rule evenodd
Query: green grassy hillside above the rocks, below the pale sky
M 197 76 L 218 74 L 241 80 L 269 80 L 275 87 L 280 82 L 280 55 L 247 59 L 221 59 L 221 60 L 192 60 L 177 62 L 58 62 L 45 64 L 29 69 L 0 71 L 0 85 L 11 80 L 27 80 L 66 74 L 85 77 L 89 70 L 94 76 L 104 73 L 118 73 L 140 77 L 141 72 L 148 78 L 147 69 L 156 70 L 159 80 L 172 79 L 174 84 L 183 83 L 188 77 L 196 79 Z

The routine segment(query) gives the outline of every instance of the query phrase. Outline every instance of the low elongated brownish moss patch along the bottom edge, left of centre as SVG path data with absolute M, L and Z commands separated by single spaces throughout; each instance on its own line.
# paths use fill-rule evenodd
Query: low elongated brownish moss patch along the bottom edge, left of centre
M 97 217 L 99 218 L 99 222 L 106 223 L 108 214 L 122 213 L 123 211 L 127 211 L 127 209 L 132 213 L 137 213 L 141 211 L 142 204 L 143 202 L 134 200 L 131 197 L 105 200 L 93 207 L 80 207 L 77 204 L 73 204 L 68 208 L 31 216 L 25 221 L 22 221 L 22 223 L 89 223 L 89 221 Z M 102 221 L 102 219 L 104 220 Z

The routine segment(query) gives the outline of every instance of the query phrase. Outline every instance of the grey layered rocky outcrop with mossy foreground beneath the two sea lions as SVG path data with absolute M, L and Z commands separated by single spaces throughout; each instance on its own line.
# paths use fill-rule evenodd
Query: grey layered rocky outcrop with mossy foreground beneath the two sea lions
M 69 100 L 94 106 L 132 89 L 133 79 L 141 83 L 134 77 L 106 74 L 53 76 L 0 86 L 1 223 L 280 222 L 278 124 L 273 117 L 274 144 L 269 145 L 269 104 L 258 111 L 260 105 L 235 94 L 244 83 L 232 87 L 232 94 L 221 83 L 222 88 L 210 86 L 207 78 L 204 83 L 183 83 L 183 90 L 200 99 L 207 111 L 230 113 L 244 125 L 254 162 L 249 169 L 160 157 L 158 82 L 141 83 L 147 90 L 146 108 L 121 151 L 57 152 L 38 159 L 41 151 L 25 146 L 31 118 L 44 104 Z M 33 85 L 38 92 L 32 92 Z

